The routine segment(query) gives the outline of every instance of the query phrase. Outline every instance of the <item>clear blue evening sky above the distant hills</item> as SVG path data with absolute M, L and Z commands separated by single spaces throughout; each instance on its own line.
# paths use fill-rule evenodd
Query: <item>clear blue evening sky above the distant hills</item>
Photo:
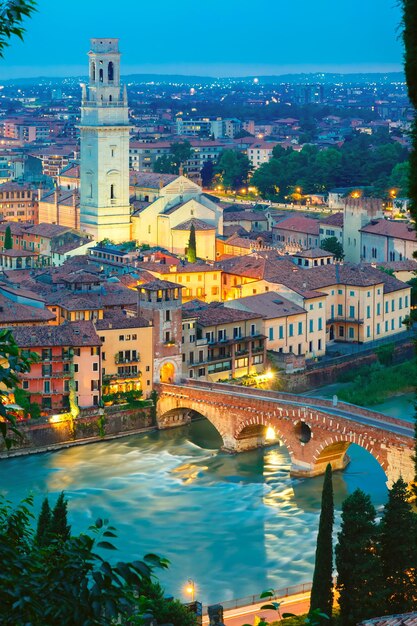
M 397 0 L 38 0 L 0 79 L 86 73 L 90 37 L 119 37 L 123 73 L 244 76 L 401 69 Z

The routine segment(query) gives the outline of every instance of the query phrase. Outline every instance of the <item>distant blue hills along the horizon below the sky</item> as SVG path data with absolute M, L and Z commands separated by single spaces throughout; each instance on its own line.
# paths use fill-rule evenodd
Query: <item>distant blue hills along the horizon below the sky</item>
M 229 84 L 236 83 L 253 83 L 255 78 L 260 85 L 273 84 L 323 84 L 330 85 L 335 83 L 365 85 L 369 83 L 403 83 L 405 76 L 403 72 L 374 72 L 374 73 L 353 73 L 353 74 L 337 74 L 337 73 L 301 73 L 301 74 L 279 74 L 271 76 L 238 76 L 238 77 L 221 77 L 213 76 L 186 76 L 182 74 L 125 74 L 124 82 L 146 84 L 177 84 L 177 85 L 211 85 L 213 83 Z M 76 84 L 78 82 L 88 81 L 87 76 L 68 76 L 68 77 L 46 77 L 37 76 L 29 78 L 9 78 L 1 81 L 3 85 L 61 85 Z

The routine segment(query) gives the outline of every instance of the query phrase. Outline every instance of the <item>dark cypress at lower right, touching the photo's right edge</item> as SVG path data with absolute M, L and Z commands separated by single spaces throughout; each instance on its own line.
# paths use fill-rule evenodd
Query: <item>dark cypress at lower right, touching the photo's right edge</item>
M 416 519 L 402 478 L 393 484 L 380 524 L 385 613 L 406 613 L 417 606 Z

